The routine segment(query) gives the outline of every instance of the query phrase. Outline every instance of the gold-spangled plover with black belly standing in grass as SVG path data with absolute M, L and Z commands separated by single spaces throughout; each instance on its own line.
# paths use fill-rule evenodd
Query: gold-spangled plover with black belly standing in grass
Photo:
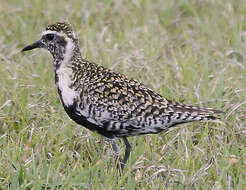
M 67 115 L 77 124 L 106 137 L 123 170 L 130 156 L 128 137 L 157 134 L 193 121 L 220 119 L 223 111 L 171 101 L 134 78 L 83 58 L 68 22 L 48 25 L 41 39 L 22 49 L 48 50 L 53 56 L 55 84 Z M 116 139 L 123 139 L 119 156 Z

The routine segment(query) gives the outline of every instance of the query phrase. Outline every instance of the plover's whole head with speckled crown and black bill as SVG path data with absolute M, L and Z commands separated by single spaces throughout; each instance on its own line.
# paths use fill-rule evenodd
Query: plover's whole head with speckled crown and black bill
M 71 25 L 66 22 L 57 22 L 48 25 L 41 39 L 26 46 L 22 51 L 44 48 L 53 55 L 54 59 L 60 61 L 70 56 L 76 45 L 77 39 Z

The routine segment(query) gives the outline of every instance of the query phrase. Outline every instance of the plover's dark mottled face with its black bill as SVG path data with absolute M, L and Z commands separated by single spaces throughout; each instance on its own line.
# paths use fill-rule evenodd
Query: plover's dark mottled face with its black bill
M 47 49 L 55 59 L 63 59 L 66 51 L 67 41 L 64 36 L 58 35 L 56 33 L 44 34 L 42 38 L 26 46 L 22 51 L 29 51 L 35 48 L 45 48 Z

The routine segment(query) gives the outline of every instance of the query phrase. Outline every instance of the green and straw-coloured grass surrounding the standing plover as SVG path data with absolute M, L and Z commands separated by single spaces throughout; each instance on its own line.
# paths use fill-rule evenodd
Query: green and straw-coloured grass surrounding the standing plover
M 244 0 L 9 0 L 0 12 L 0 189 L 245 189 Z M 48 52 L 20 53 L 61 20 L 88 60 L 169 99 L 222 109 L 224 125 L 129 138 L 120 177 L 107 140 L 63 110 Z

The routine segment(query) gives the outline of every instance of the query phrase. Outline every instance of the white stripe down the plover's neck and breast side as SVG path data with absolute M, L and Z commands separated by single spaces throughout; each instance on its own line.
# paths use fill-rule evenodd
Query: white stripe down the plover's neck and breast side
M 65 36 L 64 36 L 65 37 Z M 72 69 L 70 67 L 70 59 L 73 53 L 74 44 L 71 39 L 66 37 L 67 46 L 66 53 L 60 67 L 55 71 L 58 77 L 57 87 L 61 91 L 61 98 L 65 106 L 73 105 L 74 100 L 77 98 L 77 92 L 70 88 L 72 84 L 71 76 Z

